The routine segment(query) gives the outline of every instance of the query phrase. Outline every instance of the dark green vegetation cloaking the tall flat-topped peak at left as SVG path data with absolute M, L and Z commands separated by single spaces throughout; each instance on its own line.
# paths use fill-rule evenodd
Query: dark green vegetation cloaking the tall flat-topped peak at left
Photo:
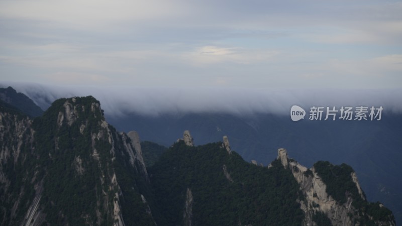
M 59 112 L 66 112 L 67 100 L 76 114 L 74 122 L 69 125 L 64 119 L 58 125 Z M 124 194 L 119 198 L 126 225 L 150 225 L 152 219 L 139 194 L 140 188 L 147 190 L 145 182 L 129 163 L 128 153 L 123 153 L 121 135 L 111 126 L 102 128 L 103 112 L 98 107 L 93 108 L 93 104 L 99 102 L 92 96 L 76 97 L 74 102 L 58 99 L 43 117 L 34 121 L 40 165 L 46 166 L 41 172 L 44 176 L 41 204 L 46 221 L 51 225 L 112 225 L 114 201 L 116 193 L 120 192 L 110 184 L 110 178 L 116 173 Z M 114 147 L 108 141 L 106 129 L 112 131 Z M 98 134 L 102 137 L 93 139 L 93 135 Z

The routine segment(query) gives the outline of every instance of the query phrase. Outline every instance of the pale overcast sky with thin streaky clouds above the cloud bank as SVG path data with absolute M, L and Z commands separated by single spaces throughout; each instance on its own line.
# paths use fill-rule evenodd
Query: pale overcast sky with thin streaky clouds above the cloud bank
M 0 1 L 2 81 L 401 88 L 401 1 Z

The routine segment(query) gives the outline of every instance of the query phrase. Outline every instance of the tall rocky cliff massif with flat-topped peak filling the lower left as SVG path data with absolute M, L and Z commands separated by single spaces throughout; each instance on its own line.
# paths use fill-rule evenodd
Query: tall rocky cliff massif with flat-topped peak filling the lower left
M 0 118 L 2 225 L 154 223 L 139 143 L 108 125 L 96 99 L 59 99 L 34 121 L 5 108 Z

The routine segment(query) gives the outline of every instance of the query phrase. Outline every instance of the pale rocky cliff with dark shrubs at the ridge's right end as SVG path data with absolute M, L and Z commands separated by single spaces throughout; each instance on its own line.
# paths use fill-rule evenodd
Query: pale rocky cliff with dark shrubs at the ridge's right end
M 291 170 L 300 185 L 304 195 L 299 200 L 300 208 L 305 212 L 304 225 L 320 225 L 318 220 L 328 220 L 334 226 L 396 225 L 392 213 L 384 205 L 366 201 L 350 166 L 318 162 L 308 169 L 289 159 L 283 148 L 278 150 L 277 159 L 285 169 Z M 337 193 L 329 194 L 334 189 Z

